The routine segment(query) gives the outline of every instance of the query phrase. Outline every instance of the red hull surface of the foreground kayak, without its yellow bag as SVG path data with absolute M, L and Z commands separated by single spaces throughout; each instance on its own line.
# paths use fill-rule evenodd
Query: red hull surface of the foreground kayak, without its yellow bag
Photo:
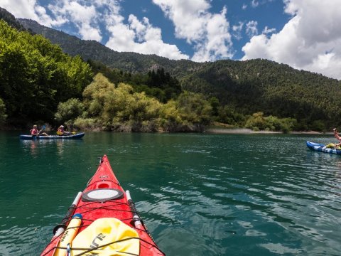
M 102 191 L 107 191 L 108 189 L 114 189 L 119 191 L 119 198 L 109 198 L 109 199 L 99 199 L 90 201 L 87 200 L 87 195 L 95 191 L 99 195 Z M 96 197 L 96 196 L 95 196 Z M 92 200 L 92 201 L 91 201 Z M 132 207 L 131 207 L 132 206 Z M 119 181 L 117 180 L 112 167 L 109 164 L 107 156 L 104 155 L 99 164 L 99 167 L 87 184 L 87 188 L 82 192 L 82 198 L 77 203 L 74 209 L 69 210 L 69 216 L 64 220 L 64 224 L 67 225 L 70 221 L 72 215 L 80 213 L 82 215 L 82 225 L 80 226 L 78 233 L 85 230 L 88 225 L 90 225 L 94 220 L 99 218 L 117 218 L 121 220 L 126 225 L 136 230 L 140 238 L 140 254 L 139 255 L 165 255 L 161 250 L 158 249 L 155 242 L 151 238 L 144 225 L 135 227 L 134 219 L 136 220 L 136 214 L 133 214 L 134 203 L 128 201 L 126 197 L 126 192 L 123 190 Z M 134 219 L 133 219 L 133 215 Z M 58 245 L 62 235 L 54 237 L 50 244 L 45 247 L 41 256 L 53 255 L 55 252 L 55 247 Z M 74 255 L 77 253 L 74 252 Z

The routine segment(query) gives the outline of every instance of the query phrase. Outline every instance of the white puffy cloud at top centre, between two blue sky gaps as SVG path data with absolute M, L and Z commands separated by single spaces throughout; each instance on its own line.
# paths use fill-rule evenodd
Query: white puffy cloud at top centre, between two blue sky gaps
M 195 48 L 192 60 L 208 61 L 232 58 L 227 9 L 211 14 L 207 0 L 153 0 L 175 26 L 175 36 Z

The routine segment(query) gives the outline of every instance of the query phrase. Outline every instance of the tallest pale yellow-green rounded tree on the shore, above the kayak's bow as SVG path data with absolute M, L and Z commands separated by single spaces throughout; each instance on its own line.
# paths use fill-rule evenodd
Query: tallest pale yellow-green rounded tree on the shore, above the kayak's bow
M 134 88 L 126 83 L 117 87 L 104 75 L 98 73 L 84 92 L 84 118 L 97 119 L 104 129 L 121 129 L 129 127 L 131 131 L 144 129 L 146 125 L 155 130 L 161 103 L 146 96 L 144 92 L 134 92 Z M 80 120 L 77 120 L 80 122 Z

